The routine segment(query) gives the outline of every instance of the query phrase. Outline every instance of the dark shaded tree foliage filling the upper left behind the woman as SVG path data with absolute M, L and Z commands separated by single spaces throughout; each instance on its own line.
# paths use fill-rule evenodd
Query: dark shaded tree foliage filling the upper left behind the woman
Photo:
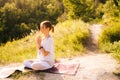
M 57 23 L 62 0 L 0 0 L 0 43 L 19 39 L 43 20 Z

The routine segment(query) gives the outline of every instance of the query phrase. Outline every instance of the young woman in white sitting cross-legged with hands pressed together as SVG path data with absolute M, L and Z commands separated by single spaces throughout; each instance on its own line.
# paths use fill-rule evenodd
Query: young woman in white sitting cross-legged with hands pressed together
M 54 65 L 54 41 L 50 35 L 50 31 L 54 32 L 54 27 L 50 21 L 43 21 L 40 23 L 39 29 L 43 36 L 36 37 L 38 57 L 37 59 L 25 60 L 24 65 L 33 70 L 46 70 Z

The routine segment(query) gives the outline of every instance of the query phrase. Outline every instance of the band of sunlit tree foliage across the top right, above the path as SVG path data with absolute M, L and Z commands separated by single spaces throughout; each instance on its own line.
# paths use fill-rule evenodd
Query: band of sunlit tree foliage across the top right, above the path
M 94 19 L 102 19 L 104 14 L 109 14 L 107 9 L 112 13 L 116 13 L 120 7 L 119 0 L 63 0 L 70 19 L 78 19 L 88 22 Z M 111 3 L 111 4 L 109 4 Z M 104 8 L 109 4 L 109 7 Z

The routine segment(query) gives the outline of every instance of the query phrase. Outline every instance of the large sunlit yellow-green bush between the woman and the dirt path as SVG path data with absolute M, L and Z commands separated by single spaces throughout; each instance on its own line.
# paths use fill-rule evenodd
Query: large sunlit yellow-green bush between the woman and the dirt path
M 65 21 L 57 24 L 55 29 L 56 57 L 72 57 L 85 50 L 84 44 L 89 36 L 88 24 L 81 20 Z

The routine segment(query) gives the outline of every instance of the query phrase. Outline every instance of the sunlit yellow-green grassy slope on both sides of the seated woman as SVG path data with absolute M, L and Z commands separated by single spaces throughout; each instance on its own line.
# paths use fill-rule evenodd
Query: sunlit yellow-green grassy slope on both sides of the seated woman
M 81 20 L 65 21 L 55 27 L 55 58 L 73 57 L 81 55 L 84 44 L 89 36 L 88 24 Z M 7 42 L 0 46 L 0 64 L 23 62 L 25 59 L 36 58 L 36 34 L 29 35 L 20 40 Z

